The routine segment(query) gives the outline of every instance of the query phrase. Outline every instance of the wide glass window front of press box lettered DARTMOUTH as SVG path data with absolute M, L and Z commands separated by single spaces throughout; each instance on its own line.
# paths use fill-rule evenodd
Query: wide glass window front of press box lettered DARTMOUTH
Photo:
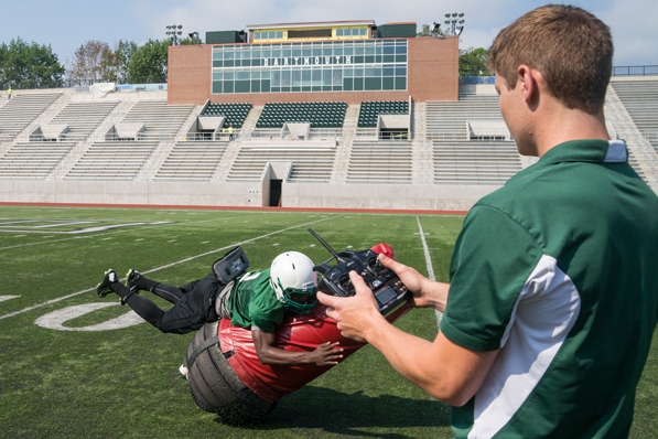
M 213 47 L 213 94 L 404 90 L 407 75 L 406 40 Z

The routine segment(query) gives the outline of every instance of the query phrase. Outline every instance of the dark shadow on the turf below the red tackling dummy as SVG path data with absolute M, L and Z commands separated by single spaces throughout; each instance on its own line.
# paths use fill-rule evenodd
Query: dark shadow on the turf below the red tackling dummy
M 220 418 L 215 421 L 224 422 Z M 408 438 L 403 432 L 380 433 L 362 429 L 406 429 L 450 426 L 450 409 L 433 399 L 412 399 L 393 395 L 376 397 L 363 392 L 345 394 L 323 387 L 306 386 L 281 399 L 263 420 L 240 426 L 244 429 L 321 429 L 347 436 Z

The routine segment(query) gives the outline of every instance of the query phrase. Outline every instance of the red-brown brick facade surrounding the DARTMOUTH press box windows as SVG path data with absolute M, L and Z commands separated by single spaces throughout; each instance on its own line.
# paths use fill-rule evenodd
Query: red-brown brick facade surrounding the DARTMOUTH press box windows
M 418 38 L 409 40 L 408 87 L 406 92 L 256 93 L 213 95 L 213 45 L 169 47 L 169 104 L 273 101 L 457 100 L 459 39 Z

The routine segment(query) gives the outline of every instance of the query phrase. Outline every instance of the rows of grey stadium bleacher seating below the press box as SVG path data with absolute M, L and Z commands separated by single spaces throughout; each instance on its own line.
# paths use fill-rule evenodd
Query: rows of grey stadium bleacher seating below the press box
M 617 78 L 611 87 L 629 115 L 624 120 L 633 120 L 615 127 L 622 119 L 611 117 L 611 132 L 623 131 L 627 138 L 630 126 L 656 148 L 651 136 L 658 132 L 658 78 Z M 75 94 L 19 92 L 0 106 L 0 184 L 98 180 L 265 188 L 269 162 L 288 167 L 288 184 L 348 184 L 348 192 L 358 197 L 377 186 L 384 191 L 379 196 L 386 196 L 384 188 L 395 184 L 418 193 L 431 185 L 490 191 L 531 164 L 516 151 L 498 97 L 489 89 L 471 89 L 455 101 L 368 100 L 349 106 L 344 101 L 169 105 L 165 94 L 111 99 Z M 606 116 L 615 108 L 606 108 Z M 384 120 L 378 118 L 386 115 L 404 116 L 407 125 L 396 131 L 400 136 L 377 132 L 375 127 Z M 239 136 L 229 142 L 226 136 L 191 130 L 194 118 L 201 117 L 223 117 Z M 117 127 L 133 127 L 134 135 L 121 138 L 119 132 L 126 131 Z M 323 135 L 313 136 L 313 130 Z M 633 140 L 628 148 L 630 164 L 657 186 L 658 156 L 647 154 Z M 195 194 L 187 196 L 194 204 Z

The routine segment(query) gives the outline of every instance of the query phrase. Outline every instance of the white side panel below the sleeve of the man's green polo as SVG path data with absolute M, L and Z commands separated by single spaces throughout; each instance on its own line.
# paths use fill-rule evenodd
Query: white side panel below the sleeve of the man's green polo
M 475 395 L 470 438 L 489 438 L 521 407 L 562 346 L 580 313 L 573 281 L 542 256 L 513 310 L 503 346 Z

